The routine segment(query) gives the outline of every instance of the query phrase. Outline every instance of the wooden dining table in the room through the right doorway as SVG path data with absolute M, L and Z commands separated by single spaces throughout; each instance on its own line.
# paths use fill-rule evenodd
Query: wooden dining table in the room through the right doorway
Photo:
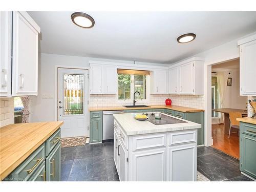
M 212 111 L 223 113 L 224 114 L 224 133 L 229 133 L 229 126 L 230 126 L 230 120 L 229 120 L 229 113 L 230 112 L 239 112 L 242 114 L 242 117 L 247 117 L 247 110 L 241 110 L 241 109 L 231 109 L 231 108 L 219 108 L 219 109 L 212 109 Z

